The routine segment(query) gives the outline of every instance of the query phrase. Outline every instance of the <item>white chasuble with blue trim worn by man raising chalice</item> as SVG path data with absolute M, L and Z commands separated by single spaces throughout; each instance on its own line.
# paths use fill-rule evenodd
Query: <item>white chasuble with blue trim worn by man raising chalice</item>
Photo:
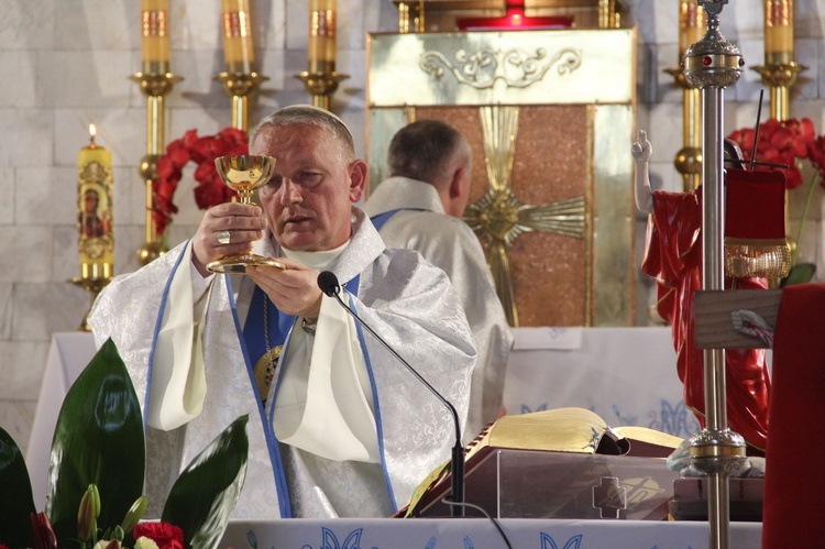
M 287 356 L 295 352 L 306 358 L 309 353 L 311 360 L 297 360 L 296 354 L 295 366 L 309 366 L 297 381 L 289 382 L 296 395 L 289 404 L 299 411 L 290 425 L 277 427 L 286 439 L 312 450 L 284 441 L 276 443 L 276 420 L 270 413 L 275 410 L 274 402 L 286 394 L 280 392 L 282 387 L 287 391 L 285 378 L 293 375 L 292 359 L 286 359 L 288 365 L 284 369 L 289 376 L 284 370 L 276 374 L 271 389 L 275 393 L 271 396 L 277 397 L 267 398 L 270 408 L 264 410 L 255 395 L 242 337 L 254 284 L 245 276 L 215 276 L 201 321 L 197 306 L 205 300 L 198 301 L 198 285 L 191 279 L 191 267 L 184 263 L 184 256 L 189 261 L 189 248 L 187 242 L 135 273 L 117 276 L 100 293 L 89 315 L 96 342 L 102 344 L 111 337 L 118 345 L 144 415 L 148 415 L 157 398 L 163 410 L 157 413 L 158 425 L 185 421 L 170 431 L 148 428 L 146 495 L 151 505 L 163 507 L 179 471 L 240 415 L 250 418 L 250 455 L 233 518 L 377 517 L 406 504 L 418 483 L 450 457 L 453 425 L 442 404 L 371 334 L 362 334 L 350 318 L 344 322 L 343 316 L 336 317 L 346 312 L 324 297 L 316 334 L 305 334 L 297 322 L 285 342 Z M 282 254 L 270 245 L 268 239 L 255 243 L 255 252 Z M 463 422 L 475 348 L 444 273 L 414 252 L 387 250 L 374 227 L 354 207 L 351 242 L 328 267 L 342 282 L 360 276 L 356 293 L 344 298 L 453 403 Z M 190 278 L 195 288 L 191 294 L 177 286 L 177 275 Z M 232 289 L 237 290 L 237 301 Z M 164 322 L 172 309 L 177 308 L 188 311 L 190 325 L 182 341 L 193 343 L 180 349 L 176 344 L 165 348 L 160 333 L 167 328 Z M 333 318 L 338 321 L 333 322 Z M 330 347 L 319 347 L 321 339 Z M 202 361 L 197 356 L 199 340 Z M 356 340 L 360 344 L 353 345 Z M 295 349 L 290 350 L 293 345 Z M 189 356 L 183 356 L 187 348 Z M 342 362 L 345 349 L 350 355 Z M 321 362 L 316 362 L 316 354 L 326 365 L 318 366 Z M 185 366 L 177 372 L 178 366 L 169 366 L 169 360 L 174 364 L 180 360 Z M 202 363 L 202 380 L 198 362 Z M 320 373 L 328 369 L 320 387 L 315 387 L 316 378 L 311 377 L 316 366 Z M 161 374 L 163 369 L 170 370 Z M 176 383 L 161 388 L 155 386 L 155 375 L 170 381 L 174 377 Z M 177 382 L 183 380 L 182 389 Z M 206 392 L 198 397 L 201 383 Z M 296 389 L 301 383 L 307 388 Z M 310 384 L 312 391 L 308 388 Z M 177 419 L 169 419 L 168 424 L 164 406 L 167 399 L 177 402 L 177 406 L 168 408 L 175 411 L 169 417 Z M 202 406 L 199 414 L 198 404 Z M 337 416 L 332 420 L 334 429 L 329 414 Z M 186 416 L 194 417 L 186 421 Z M 320 438 L 319 427 L 323 428 Z M 314 430 L 316 433 L 311 435 Z M 341 432 L 332 433 L 333 430 Z M 331 443 L 320 440 L 327 437 Z M 356 461 L 364 458 L 365 461 Z

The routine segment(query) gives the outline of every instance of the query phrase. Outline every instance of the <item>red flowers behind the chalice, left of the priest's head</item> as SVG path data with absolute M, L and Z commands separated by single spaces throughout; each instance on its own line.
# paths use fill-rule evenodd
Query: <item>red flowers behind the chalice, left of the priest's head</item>
M 235 193 L 227 187 L 215 167 L 218 156 L 246 154 L 249 138 L 235 128 L 226 128 L 216 135 L 198 136 L 197 130 L 187 131 L 183 138 L 173 141 L 166 153 L 157 161 L 157 178 L 152 180 L 153 217 L 157 235 L 162 237 L 178 209 L 173 201 L 184 167 L 194 162 L 195 202 L 206 210 L 228 202 Z

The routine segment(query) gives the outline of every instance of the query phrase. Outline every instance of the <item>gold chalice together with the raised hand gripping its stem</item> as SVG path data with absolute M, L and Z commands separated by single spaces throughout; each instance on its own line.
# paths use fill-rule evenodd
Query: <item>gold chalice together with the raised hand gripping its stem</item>
M 227 202 L 211 208 L 195 235 L 195 256 L 209 259 L 206 271 L 222 274 L 245 274 L 251 265 L 284 268 L 272 257 L 252 253 L 252 242 L 263 237 L 266 221 L 260 208 L 252 204 L 252 193 L 272 177 L 276 160 L 265 155 L 219 156 L 215 160 L 223 183 L 238 191 L 239 202 Z M 199 262 L 196 261 L 196 265 Z M 202 268 L 199 266 L 201 274 Z

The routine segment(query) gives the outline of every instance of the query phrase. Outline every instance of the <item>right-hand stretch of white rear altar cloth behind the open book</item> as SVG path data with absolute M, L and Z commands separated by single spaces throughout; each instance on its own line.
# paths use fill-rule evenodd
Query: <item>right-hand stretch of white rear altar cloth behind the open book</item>
M 650 427 L 688 438 L 670 328 L 517 328 L 504 387 L 508 414 L 575 406 L 612 427 Z

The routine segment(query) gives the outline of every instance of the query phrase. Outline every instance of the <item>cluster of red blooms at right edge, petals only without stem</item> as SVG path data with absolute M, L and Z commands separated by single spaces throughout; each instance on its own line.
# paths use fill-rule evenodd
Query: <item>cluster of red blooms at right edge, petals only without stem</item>
M 755 133 L 754 129 L 746 128 L 728 135 L 728 139 L 739 144 L 746 161 L 751 158 L 754 152 Z M 810 119 L 791 119 L 784 122 L 770 119 L 759 125 L 756 160 L 785 164 L 788 168 L 756 166 L 756 169 L 784 169 L 787 187 L 792 189 L 802 185 L 802 174 L 796 166 L 796 158 L 811 158 L 811 162 L 822 171 L 822 161 L 825 157 L 822 151 L 822 146 L 817 147 L 816 132 Z

